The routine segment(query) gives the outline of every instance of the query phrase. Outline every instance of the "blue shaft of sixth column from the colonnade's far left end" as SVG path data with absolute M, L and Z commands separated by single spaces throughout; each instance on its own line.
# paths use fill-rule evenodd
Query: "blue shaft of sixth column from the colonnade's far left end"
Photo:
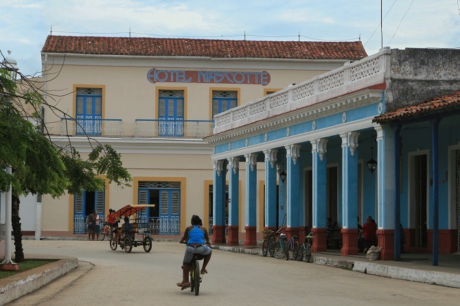
M 317 139 L 312 143 L 312 193 L 314 228 L 326 227 L 326 144 L 327 139 Z

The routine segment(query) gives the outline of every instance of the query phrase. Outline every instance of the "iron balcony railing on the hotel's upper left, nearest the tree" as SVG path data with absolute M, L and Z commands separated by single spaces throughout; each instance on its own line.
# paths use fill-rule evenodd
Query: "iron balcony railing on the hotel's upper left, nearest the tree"
M 60 119 L 61 136 L 122 137 L 122 119 Z

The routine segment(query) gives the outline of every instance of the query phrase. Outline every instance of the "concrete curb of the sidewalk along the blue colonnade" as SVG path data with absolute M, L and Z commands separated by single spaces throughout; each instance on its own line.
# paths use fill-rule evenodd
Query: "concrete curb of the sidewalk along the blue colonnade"
M 260 248 L 242 248 L 240 246 L 221 245 L 212 246 L 212 248 L 217 250 L 225 250 L 227 252 L 262 255 L 262 250 L 260 250 Z M 332 266 L 336 268 L 352 270 L 355 272 L 389 277 L 391 279 L 402 279 L 404 281 L 416 281 L 419 283 L 429 283 L 432 285 L 443 285 L 446 287 L 460 288 L 460 275 L 448 272 L 436 272 L 403 268 L 398 266 L 387 266 L 376 262 L 336 259 L 321 255 L 312 256 L 311 262 L 323 266 Z

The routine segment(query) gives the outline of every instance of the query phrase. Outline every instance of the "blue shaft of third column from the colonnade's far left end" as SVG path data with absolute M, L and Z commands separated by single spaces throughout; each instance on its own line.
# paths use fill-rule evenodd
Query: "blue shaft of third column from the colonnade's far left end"
M 257 226 L 257 154 L 246 156 L 246 226 Z

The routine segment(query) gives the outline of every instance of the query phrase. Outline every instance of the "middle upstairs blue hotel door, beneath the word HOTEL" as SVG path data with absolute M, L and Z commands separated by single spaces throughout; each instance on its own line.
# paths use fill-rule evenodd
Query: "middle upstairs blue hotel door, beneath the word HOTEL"
M 159 137 L 183 137 L 184 98 L 159 97 Z

